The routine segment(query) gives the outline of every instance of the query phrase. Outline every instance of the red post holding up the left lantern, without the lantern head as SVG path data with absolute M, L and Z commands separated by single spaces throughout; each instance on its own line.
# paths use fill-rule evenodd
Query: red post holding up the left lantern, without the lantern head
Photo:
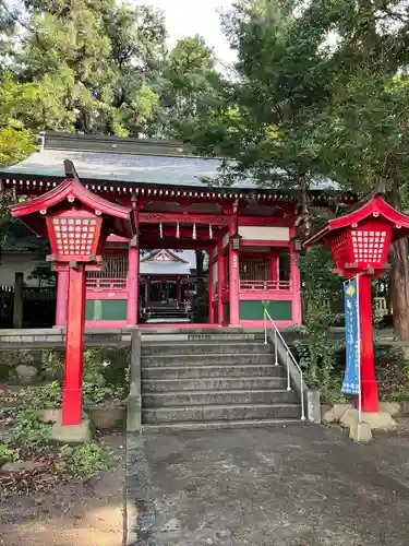
M 85 265 L 82 263 L 69 270 L 61 425 L 81 424 L 84 322 Z

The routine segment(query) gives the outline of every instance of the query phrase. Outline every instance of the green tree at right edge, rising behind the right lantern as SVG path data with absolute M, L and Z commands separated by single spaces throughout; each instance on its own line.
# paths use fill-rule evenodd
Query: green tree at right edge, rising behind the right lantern
M 328 3 L 320 5 L 328 9 Z M 339 39 L 328 55 L 334 91 L 326 111 L 316 120 L 314 140 L 324 170 L 333 179 L 361 193 L 381 183 L 389 202 L 401 209 L 409 175 L 408 13 L 396 2 L 364 2 L 354 7 L 351 16 L 346 5 L 333 3 L 339 13 Z M 394 330 L 399 339 L 409 340 L 406 239 L 393 244 L 392 265 Z

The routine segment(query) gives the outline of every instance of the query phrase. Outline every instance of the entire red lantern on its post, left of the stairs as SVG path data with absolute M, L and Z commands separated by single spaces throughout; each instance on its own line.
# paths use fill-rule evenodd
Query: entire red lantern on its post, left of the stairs
M 86 272 L 101 269 L 101 250 L 111 233 L 132 238 L 131 209 L 95 195 L 80 182 L 71 162 L 64 162 L 65 180 L 43 195 L 10 207 L 39 236 L 48 235 L 56 271 L 68 270 L 65 363 L 62 390 L 61 438 L 67 428 L 82 424 Z M 59 439 L 59 438 L 57 438 Z

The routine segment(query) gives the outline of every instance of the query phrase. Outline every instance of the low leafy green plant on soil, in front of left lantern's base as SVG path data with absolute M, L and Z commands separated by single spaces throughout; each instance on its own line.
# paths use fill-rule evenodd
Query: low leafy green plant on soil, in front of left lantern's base
M 95 442 L 61 446 L 57 470 L 75 478 L 89 478 L 108 468 L 107 455 Z

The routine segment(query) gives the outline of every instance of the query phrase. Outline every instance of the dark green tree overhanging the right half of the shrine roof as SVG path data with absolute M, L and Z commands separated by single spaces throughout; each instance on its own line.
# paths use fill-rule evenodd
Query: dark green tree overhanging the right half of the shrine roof
M 300 217 L 309 232 L 308 189 L 321 174 L 314 120 L 332 94 L 323 40 L 333 13 L 297 16 L 299 2 L 240 0 L 224 26 L 238 52 L 237 80 L 224 100 L 196 123 L 192 142 L 202 153 L 231 157 L 220 182 L 253 178 L 260 186 L 300 190 Z

